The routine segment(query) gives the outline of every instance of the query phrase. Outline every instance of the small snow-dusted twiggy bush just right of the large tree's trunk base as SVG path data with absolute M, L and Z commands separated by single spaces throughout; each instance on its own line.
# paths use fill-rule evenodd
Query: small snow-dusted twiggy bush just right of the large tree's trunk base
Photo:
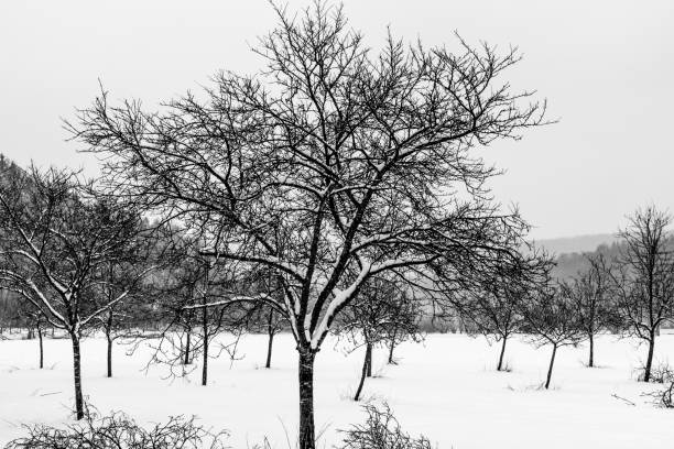
M 432 449 L 426 437 L 405 434 L 387 404 L 381 409 L 371 404 L 363 408 L 368 414 L 366 423 L 344 431 L 341 449 Z

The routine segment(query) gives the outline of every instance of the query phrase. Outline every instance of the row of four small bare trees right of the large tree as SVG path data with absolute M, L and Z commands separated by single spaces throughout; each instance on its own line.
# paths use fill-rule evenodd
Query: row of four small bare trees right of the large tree
M 641 380 L 652 375 L 660 328 L 674 320 L 674 237 L 672 217 L 655 207 L 640 209 L 620 231 L 612 256 L 584 255 L 586 269 L 567 280 L 552 276 L 554 262 L 540 256 L 542 270 L 498 274 L 478 288 L 459 292 L 453 300 L 469 327 L 501 342 L 497 370 L 503 369 L 508 339 L 530 336 L 537 346 L 552 346 L 545 387 L 550 386 L 559 347 L 587 341 L 588 366 L 595 366 L 595 337 L 610 331 L 646 343 Z

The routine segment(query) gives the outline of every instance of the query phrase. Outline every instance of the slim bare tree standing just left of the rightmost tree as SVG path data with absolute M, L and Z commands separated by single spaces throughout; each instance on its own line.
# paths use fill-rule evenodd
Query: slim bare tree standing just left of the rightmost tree
M 589 342 L 587 365 L 591 368 L 595 366 L 595 336 L 616 325 L 616 310 L 606 258 L 602 254 L 586 254 L 585 258 L 588 269 L 579 272 L 570 282 L 562 283 L 562 289 L 574 305 L 579 326 Z

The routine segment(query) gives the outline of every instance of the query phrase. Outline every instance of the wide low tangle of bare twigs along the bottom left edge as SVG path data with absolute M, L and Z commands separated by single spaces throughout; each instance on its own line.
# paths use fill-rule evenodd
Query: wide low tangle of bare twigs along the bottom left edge
M 26 428 L 29 436 L 10 441 L 6 449 L 225 449 L 222 440 L 227 437 L 182 416 L 148 430 L 121 413 L 100 419 L 88 417 L 65 429 L 44 425 Z

